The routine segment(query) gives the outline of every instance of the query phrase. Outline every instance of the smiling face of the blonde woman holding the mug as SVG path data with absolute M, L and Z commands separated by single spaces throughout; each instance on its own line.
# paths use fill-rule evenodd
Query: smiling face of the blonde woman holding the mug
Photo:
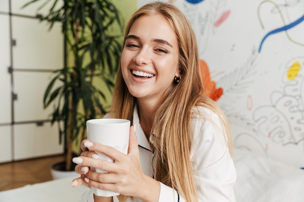
M 157 103 L 179 77 L 179 47 L 167 19 L 140 16 L 133 23 L 121 53 L 121 71 L 129 92 Z

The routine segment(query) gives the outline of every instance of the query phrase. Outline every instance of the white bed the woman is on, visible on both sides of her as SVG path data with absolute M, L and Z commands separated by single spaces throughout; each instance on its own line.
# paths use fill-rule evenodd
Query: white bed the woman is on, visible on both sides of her
M 304 170 L 236 150 L 236 202 L 304 202 Z M 73 177 L 0 192 L 0 202 L 77 202 L 86 187 Z

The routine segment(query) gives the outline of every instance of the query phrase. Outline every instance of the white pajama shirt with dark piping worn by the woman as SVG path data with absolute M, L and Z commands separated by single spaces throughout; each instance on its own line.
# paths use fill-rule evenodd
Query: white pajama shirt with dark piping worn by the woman
M 207 114 L 212 123 L 195 116 L 191 120 L 193 143 L 191 146 L 191 162 L 194 162 L 193 172 L 200 202 L 235 202 L 233 186 L 236 182 L 236 171 L 229 154 L 222 124 L 217 114 L 209 109 L 198 107 Z M 135 107 L 133 123 L 136 125 L 140 165 L 146 175 L 152 177 L 152 149 L 140 126 L 137 108 Z M 215 125 L 217 124 L 217 125 Z M 150 137 L 152 142 L 153 136 Z M 152 142 L 153 143 L 153 142 Z M 113 197 L 118 202 L 117 196 Z M 80 202 L 94 202 L 93 193 L 87 189 Z M 126 202 L 141 202 L 138 198 L 128 198 Z M 186 202 L 177 191 L 160 183 L 158 202 Z

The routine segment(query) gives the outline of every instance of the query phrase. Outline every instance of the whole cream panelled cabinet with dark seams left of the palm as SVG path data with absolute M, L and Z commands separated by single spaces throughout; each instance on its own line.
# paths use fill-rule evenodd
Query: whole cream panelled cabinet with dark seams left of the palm
M 51 72 L 64 65 L 64 39 L 60 24 L 49 31 L 35 17 L 42 0 L 21 9 L 26 2 L 0 0 L 0 163 L 64 152 L 52 109 L 43 109 Z

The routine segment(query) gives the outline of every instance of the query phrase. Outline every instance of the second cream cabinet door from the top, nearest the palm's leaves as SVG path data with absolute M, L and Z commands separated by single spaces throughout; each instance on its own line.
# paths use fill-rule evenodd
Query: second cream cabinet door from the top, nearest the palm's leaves
M 63 66 L 64 39 L 60 24 L 51 31 L 46 22 L 12 16 L 13 64 L 16 69 L 54 70 Z

